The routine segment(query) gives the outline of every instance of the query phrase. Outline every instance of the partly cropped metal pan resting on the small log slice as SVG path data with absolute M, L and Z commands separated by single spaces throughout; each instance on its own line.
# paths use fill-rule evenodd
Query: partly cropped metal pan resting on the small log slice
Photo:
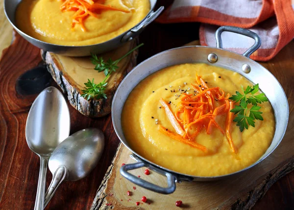
M 117 47 L 120 47 L 123 43 L 131 41 L 134 39 L 134 37 L 138 36 L 143 31 L 143 29 L 149 23 L 154 21 L 164 9 L 164 7 L 161 6 L 158 10 L 154 12 L 153 8 L 157 0 L 150 0 L 150 12 L 147 14 L 147 16 L 135 27 L 129 29 L 128 31 L 125 31 L 121 35 L 96 45 L 63 46 L 63 45 L 54 45 L 54 44 L 40 41 L 38 39 L 35 39 L 25 34 L 20 29 L 18 29 L 18 27 L 15 25 L 15 13 L 16 13 L 18 4 L 21 1 L 22 0 L 4 0 L 4 13 L 8 21 L 10 22 L 10 24 L 14 27 L 14 29 L 32 45 L 39 47 L 45 51 L 54 52 L 56 54 L 66 55 L 66 56 L 87 56 L 87 55 L 90 55 L 91 52 L 95 54 L 99 54 L 99 53 L 107 52 Z

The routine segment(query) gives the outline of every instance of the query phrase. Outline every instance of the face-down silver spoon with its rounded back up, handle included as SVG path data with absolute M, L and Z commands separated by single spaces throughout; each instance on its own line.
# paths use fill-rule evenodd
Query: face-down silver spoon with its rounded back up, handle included
M 97 128 L 78 131 L 60 143 L 49 159 L 53 177 L 45 194 L 44 208 L 61 183 L 86 177 L 96 167 L 103 149 L 104 135 Z

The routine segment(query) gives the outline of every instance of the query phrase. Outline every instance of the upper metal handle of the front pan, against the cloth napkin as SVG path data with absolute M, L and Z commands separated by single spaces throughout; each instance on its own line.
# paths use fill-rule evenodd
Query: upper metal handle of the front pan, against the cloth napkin
M 247 49 L 246 52 L 243 53 L 243 55 L 246 56 L 247 58 L 249 58 L 249 56 L 261 46 L 260 37 L 253 31 L 250 31 L 244 28 L 233 27 L 233 26 L 221 26 L 216 31 L 216 41 L 217 41 L 218 48 L 222 48 L 221 33 L 223 31 L 234 32 L 234 33 L 241 34 L 247 37 L 251 37 L 252 39 L 255 40 L 254 45 L 250 47 L 249 49 Z

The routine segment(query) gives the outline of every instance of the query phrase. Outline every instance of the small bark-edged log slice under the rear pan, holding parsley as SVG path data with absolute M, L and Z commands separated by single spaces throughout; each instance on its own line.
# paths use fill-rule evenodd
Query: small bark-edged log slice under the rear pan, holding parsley
M 136 43 L 137 40 L 128 42 L 122 47 L 98 55 L 98 57 L 102 56 L 104 61 L 109 58 L 116 60 L 134 48 Z M 138 50 L 123 58 L 118 64 L 119 69 L 108 78 L 105 91 L 107 99 L 90 99 L 89 101 L 81 96 L 84 83 L 88 79 L 92 81 L 94 78 L 94 82 L 97 84 L 105 78 L 103 72 L 94 70 L 95 65 L 92 64 L 89 57 L 67 57 L 43 50 L 41 50 L 41 55 L 53 79 L 68 96 L 70 104 L 87 117 L 102 117 L 111 112 L 114 93 L 126 74 L 136 66 Z

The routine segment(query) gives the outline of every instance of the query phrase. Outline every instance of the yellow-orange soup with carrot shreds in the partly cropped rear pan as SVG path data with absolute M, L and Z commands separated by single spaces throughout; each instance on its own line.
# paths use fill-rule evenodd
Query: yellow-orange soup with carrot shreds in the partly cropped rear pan
M 44 42 L 85 46 L 115 38 L 149 10 L 149 0 L 22 0 L 16 25 Z

